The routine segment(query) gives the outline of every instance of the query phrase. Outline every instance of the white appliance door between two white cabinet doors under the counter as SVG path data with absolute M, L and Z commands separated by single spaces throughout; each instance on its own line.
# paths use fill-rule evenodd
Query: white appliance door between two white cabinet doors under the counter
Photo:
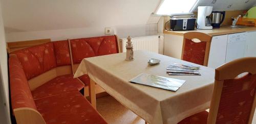
M 226 63 L 244 57 L 246 33 L 228 35 Z

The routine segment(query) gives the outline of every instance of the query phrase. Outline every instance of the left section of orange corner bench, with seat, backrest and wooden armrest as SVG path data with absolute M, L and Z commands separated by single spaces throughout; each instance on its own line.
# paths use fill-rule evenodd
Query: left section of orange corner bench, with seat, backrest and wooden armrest
M 16 56 L 9 58 L 11 104 L 17 123 L 106 123 L 78 91 L 33 100 Z

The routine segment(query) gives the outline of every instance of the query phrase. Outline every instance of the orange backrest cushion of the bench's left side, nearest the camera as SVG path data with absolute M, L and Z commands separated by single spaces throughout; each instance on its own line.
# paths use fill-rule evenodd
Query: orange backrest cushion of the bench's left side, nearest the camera
M 9 58 L 12 109 L 29 107 L 36 110 L 23 67 L 16 56 Z

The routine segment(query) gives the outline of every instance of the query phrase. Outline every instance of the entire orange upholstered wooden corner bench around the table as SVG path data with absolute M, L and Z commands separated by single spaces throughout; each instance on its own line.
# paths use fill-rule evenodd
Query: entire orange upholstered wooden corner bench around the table
M 79 92 L 90 83 L 89 76 L 73 78 L 73 73 L 83 58 L 118 53 L 117 39 L 102 36 L 15 47 L 9 71 L 17 122 L 106 123 Z

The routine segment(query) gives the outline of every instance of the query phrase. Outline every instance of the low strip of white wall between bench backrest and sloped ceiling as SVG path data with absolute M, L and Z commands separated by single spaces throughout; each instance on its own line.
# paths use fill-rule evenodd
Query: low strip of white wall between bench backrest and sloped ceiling
M 146 24 L 137 24 L 130 26 L 107 26 L 111 28 L 112 34 L 117 34 L 119 38 L 144 36 Z M 6 33 L 7 42 L 44 39 L 51 38 L 52 41 L 66 40 L 83 37 L 95 37 L 105 35 L 105 27 L 93 28 L 76 28 L 63 30 L 46 30 L 46 31 L 31 31 L 31 32 L 10 32 Z

